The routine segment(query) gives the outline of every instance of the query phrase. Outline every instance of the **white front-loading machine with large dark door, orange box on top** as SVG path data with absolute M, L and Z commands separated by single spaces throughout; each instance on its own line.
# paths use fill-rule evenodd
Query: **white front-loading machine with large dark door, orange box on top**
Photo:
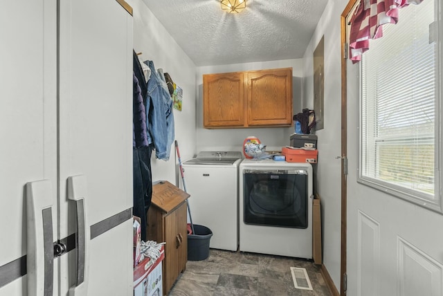
M 239 165 L 239 250 L 312 258 L 312 167 L 245 159 Z

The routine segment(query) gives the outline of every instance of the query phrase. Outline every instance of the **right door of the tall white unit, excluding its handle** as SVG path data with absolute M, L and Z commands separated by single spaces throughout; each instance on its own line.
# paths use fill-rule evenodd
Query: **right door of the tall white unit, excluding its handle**
M 59 238 L 80 236 L 71 190 L 85 195 L 90 234 L 84 269 L 78 248 L 61 257 L 61 295 L 79 270 L 80 295 L 133 295 L 132 17 L 117 1 L 59 6 Z

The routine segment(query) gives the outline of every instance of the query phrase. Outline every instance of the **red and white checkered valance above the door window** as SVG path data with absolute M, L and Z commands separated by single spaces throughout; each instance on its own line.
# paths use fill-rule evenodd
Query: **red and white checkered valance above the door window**
M 350 59 L 353 63 L 369 49 L 369 40 L 383 36 L 383 24 L 397 24 L 399 8 L 423 0 L 359 0 L 351 19 Z

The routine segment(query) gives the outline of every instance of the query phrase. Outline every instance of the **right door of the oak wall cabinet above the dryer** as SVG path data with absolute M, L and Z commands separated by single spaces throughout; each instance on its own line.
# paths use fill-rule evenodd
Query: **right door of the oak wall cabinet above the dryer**
M 292 124 L 292 68 L 250 71 L 248 75 L 248 125 Z

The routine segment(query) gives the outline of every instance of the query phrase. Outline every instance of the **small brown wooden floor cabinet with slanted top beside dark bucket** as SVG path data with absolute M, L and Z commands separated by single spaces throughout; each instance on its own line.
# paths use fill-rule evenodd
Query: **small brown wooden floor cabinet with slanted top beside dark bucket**
M 163 294 L 168 295 L 188 261 L 186 199 L 190 195 L 168 181 L 152 187 L 152 203 L 147 211 L 147 239 L 165 242 Z

